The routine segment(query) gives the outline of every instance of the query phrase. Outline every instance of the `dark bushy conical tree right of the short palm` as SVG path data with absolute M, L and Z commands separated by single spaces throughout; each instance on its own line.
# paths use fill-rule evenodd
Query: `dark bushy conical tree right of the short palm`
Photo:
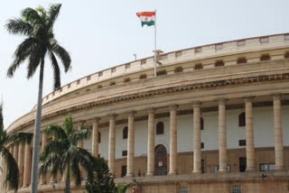
M 94 174 L 92 180 L 87 180 L 85 187 L 88 193 L 112 193 L 116 190 L 113 175 L 109 172 L 104 159 L 94 158 Z

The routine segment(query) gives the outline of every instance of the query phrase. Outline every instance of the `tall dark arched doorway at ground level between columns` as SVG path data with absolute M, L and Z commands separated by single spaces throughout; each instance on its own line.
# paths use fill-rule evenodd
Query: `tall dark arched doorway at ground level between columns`
M 162 144 L 154 148 L 154 175 L 162 176 L 167 174 L 167 152 Z

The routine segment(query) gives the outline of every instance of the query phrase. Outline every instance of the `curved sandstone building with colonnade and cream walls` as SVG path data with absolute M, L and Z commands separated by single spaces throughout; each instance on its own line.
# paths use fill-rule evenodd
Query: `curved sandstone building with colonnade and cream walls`
M 289 192 L 289 34 L 135 60 L 43 97 L 42 129 L 72 115 L 116 182 L 138 192 Z M 35 107 L 7 131 L 33 132 Z M 42 135 L 42 147 L 49 139 Z M 29 192 L 32 145 L 10 144 Z M 5 172 L 5 165 L 4 165 Z M 39 192 L 61 192 L 50 175 Z M 74 187 L 73 192 L 84 192 Z M 130 189 L 129 189 L 130 190 Z M 1 191 L 9 189 L 3 183 Z

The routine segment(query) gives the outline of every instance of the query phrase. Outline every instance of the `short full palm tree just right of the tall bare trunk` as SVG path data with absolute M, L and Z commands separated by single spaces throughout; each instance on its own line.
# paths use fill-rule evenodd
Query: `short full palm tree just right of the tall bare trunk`
M 72 127 L 71 116 L 66 117 L 62 126 L 50 125 L 45 129 L 46 135 L 51 135 L 52 140 L 48 142 L 41 153 L 40 173 L 45 174 L 51 170 L 54 177 L 61 171 L 66 175 L 64 192 L 70 193 L 70 174 L 75 184 L 81 184 L 80 168 L 87 172 L 87 179 L 93 179 L 94 157 L 85 149 L 77 146 L 78 142 L 88 139 L 90 130 L 81 127 L 75 130 Z

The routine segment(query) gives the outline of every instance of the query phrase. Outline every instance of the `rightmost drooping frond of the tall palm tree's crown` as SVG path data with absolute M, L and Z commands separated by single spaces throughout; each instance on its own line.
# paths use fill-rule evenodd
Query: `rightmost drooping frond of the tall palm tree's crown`
M 51 51 L 53 51 L 60 59 L 64 67 L 64 71 L 67 72 L 70 69 L 70 53 L 62 48 L 57 41 L 51 41 Z

